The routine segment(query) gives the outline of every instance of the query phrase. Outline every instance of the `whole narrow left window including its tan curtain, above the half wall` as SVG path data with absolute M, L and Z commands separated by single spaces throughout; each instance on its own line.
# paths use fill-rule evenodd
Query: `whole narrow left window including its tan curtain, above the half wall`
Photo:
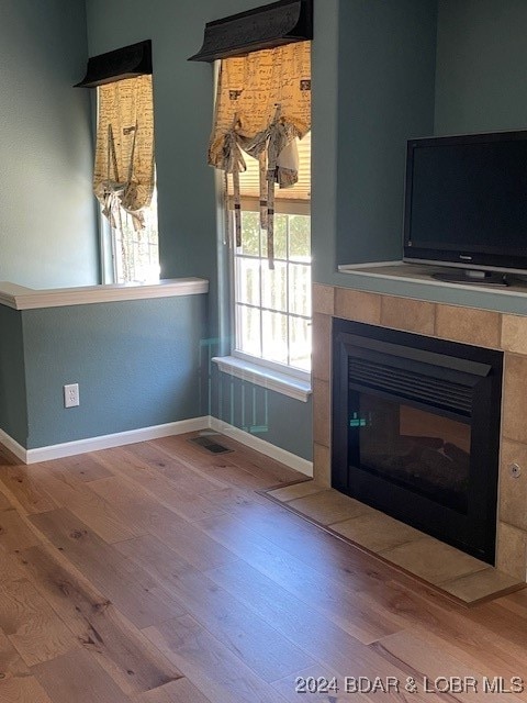
M 150 75 L 98 88 L 93 188 L 108 219 L 104 281 L 159 280 Z

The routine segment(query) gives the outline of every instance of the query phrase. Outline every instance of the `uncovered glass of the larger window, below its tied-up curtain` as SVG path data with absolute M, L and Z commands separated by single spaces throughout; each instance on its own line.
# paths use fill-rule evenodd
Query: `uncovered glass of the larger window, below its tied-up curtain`
M 289 367 L 293 373 L 311 371 L 311 216 L 309 201 L 295 199 L 299 190 L 309 189 L 310 134 L 303 142 L 299 183 L 277 191 L 274 268 L 267 258 L 267 231 L 260 227 L 258 201 L 247 196 L 256 181 L 257 163 L 240 174 L 242 246 L 233 247 L 232 353 Z

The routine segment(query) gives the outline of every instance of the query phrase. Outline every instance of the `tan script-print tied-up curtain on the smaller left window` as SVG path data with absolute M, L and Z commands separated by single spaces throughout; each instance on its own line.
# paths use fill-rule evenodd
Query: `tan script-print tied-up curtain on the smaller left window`
M 152 76 L 100 86 L 93 192 L 113 227 L 122 211 L 144 227 L 154 185 Z

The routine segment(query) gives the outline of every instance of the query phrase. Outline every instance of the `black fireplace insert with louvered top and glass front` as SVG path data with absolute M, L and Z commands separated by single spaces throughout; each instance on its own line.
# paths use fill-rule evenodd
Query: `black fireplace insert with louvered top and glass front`
M 344 320 L 335 489 L 494 563 L 503 354 Z

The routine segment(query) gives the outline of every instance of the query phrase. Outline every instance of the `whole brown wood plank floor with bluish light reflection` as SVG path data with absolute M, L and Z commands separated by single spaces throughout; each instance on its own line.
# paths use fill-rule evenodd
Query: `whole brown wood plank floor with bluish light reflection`
M 1 703 L 527 701 L 484 692 L 527 688 L 525 591 L 455 605 L 258 494 L 299 476 L 222 442 L 0 449 Z

